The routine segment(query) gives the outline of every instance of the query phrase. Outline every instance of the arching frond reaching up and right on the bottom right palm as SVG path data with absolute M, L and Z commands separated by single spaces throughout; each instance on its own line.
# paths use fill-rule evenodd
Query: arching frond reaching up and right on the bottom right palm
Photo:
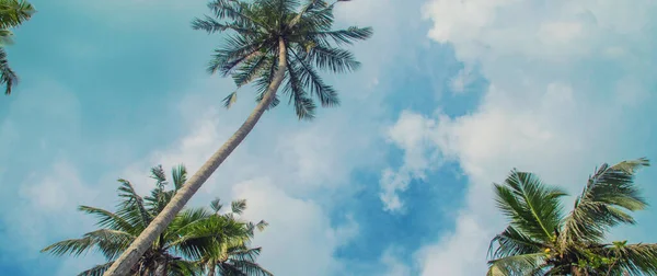
M 626 210 L 644 209 L 647 203 L 634 184 L 634 176 L 638 169 L 648 165 L 645 158 L 612 166 L 602 164 L 589 177 L 573 211 L 565 218 L 564 239 L 600 242 L 611 227 L 635 223 Z

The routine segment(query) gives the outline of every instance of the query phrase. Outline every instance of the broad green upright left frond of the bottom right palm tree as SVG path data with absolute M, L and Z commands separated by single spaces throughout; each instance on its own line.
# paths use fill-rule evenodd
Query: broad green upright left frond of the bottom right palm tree
M 495 184 L 497 207 L 511 226 L 533 240 L 551 241 L 561 227 L 562 205 L 566 195 L 545 186 L 534 174 L 512 170 L 504 185 Z

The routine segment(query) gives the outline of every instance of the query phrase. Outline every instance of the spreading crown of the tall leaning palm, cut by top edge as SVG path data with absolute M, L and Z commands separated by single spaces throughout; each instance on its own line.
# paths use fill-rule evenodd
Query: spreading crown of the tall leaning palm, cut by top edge
M 289 96 L 299 118 L 310 119 L 316 108 L 314 100 L 322 106 L 339 104 L 337 92 L 322 80 L 320 72 L 347 72 L 360 65 L 351 53 L 338 46 L 372 35 L 371 27 L 332 30 L 336 2 L 214 0 L 208 4 L 212 16 L 196 19 L 193 27 L 226 33 L 224 44 L 215 50 L 208 71 L 232 76 L 238 89 L 254 83 L 260 102 L 275 72 L 285 70 L 283 93 Z M 285 68 L 279 68 L 281 53 Z M 237 91 L 228 95 L 224 105 L 230 107 L 237 96 Z M 278 103 L 276 95 L 269 107 Z

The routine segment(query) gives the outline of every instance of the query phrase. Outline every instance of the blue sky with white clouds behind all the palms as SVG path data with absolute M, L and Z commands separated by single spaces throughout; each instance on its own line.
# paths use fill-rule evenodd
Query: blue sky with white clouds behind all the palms
M 102 262 L 39 253 L 94 229 L 79 205 L 145 194 L 149 169 L 196 171 L 255 106 L 205 65 L 206 1 L 32 0 L 0 99 L 0 274 L 76 275 Z M 657 157 L 657 1 L 354 0 L 362 67 L 326 76 L 342 106 L 267 112 L 189 206 L 244 198 L 276 275 L 482 275 L 504 229 L 492 183 L 514 168 L 572 195 L 597 165 Z M 657 205 L 655 169 L 636 182 Z M 568 197 L 567 200 L 573 200 Z M 569 204 L 568 204 L 569 205 Z M 657 242 L 657 211 L 610 238 Z

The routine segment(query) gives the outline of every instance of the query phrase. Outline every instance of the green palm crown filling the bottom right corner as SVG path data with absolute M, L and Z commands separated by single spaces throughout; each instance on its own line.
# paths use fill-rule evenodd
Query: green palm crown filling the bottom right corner
M 647 159 L 602 164 L 567 216 L 561 203 L 566 193 L 511 171 L 495 184 L 510 225 L 491 242 L 487 275 L 657 275 L 657 244 L 604 241 L 612 227 L 635 223 L 629 211 L 647 206 L 634 175 L 648 165 Z

